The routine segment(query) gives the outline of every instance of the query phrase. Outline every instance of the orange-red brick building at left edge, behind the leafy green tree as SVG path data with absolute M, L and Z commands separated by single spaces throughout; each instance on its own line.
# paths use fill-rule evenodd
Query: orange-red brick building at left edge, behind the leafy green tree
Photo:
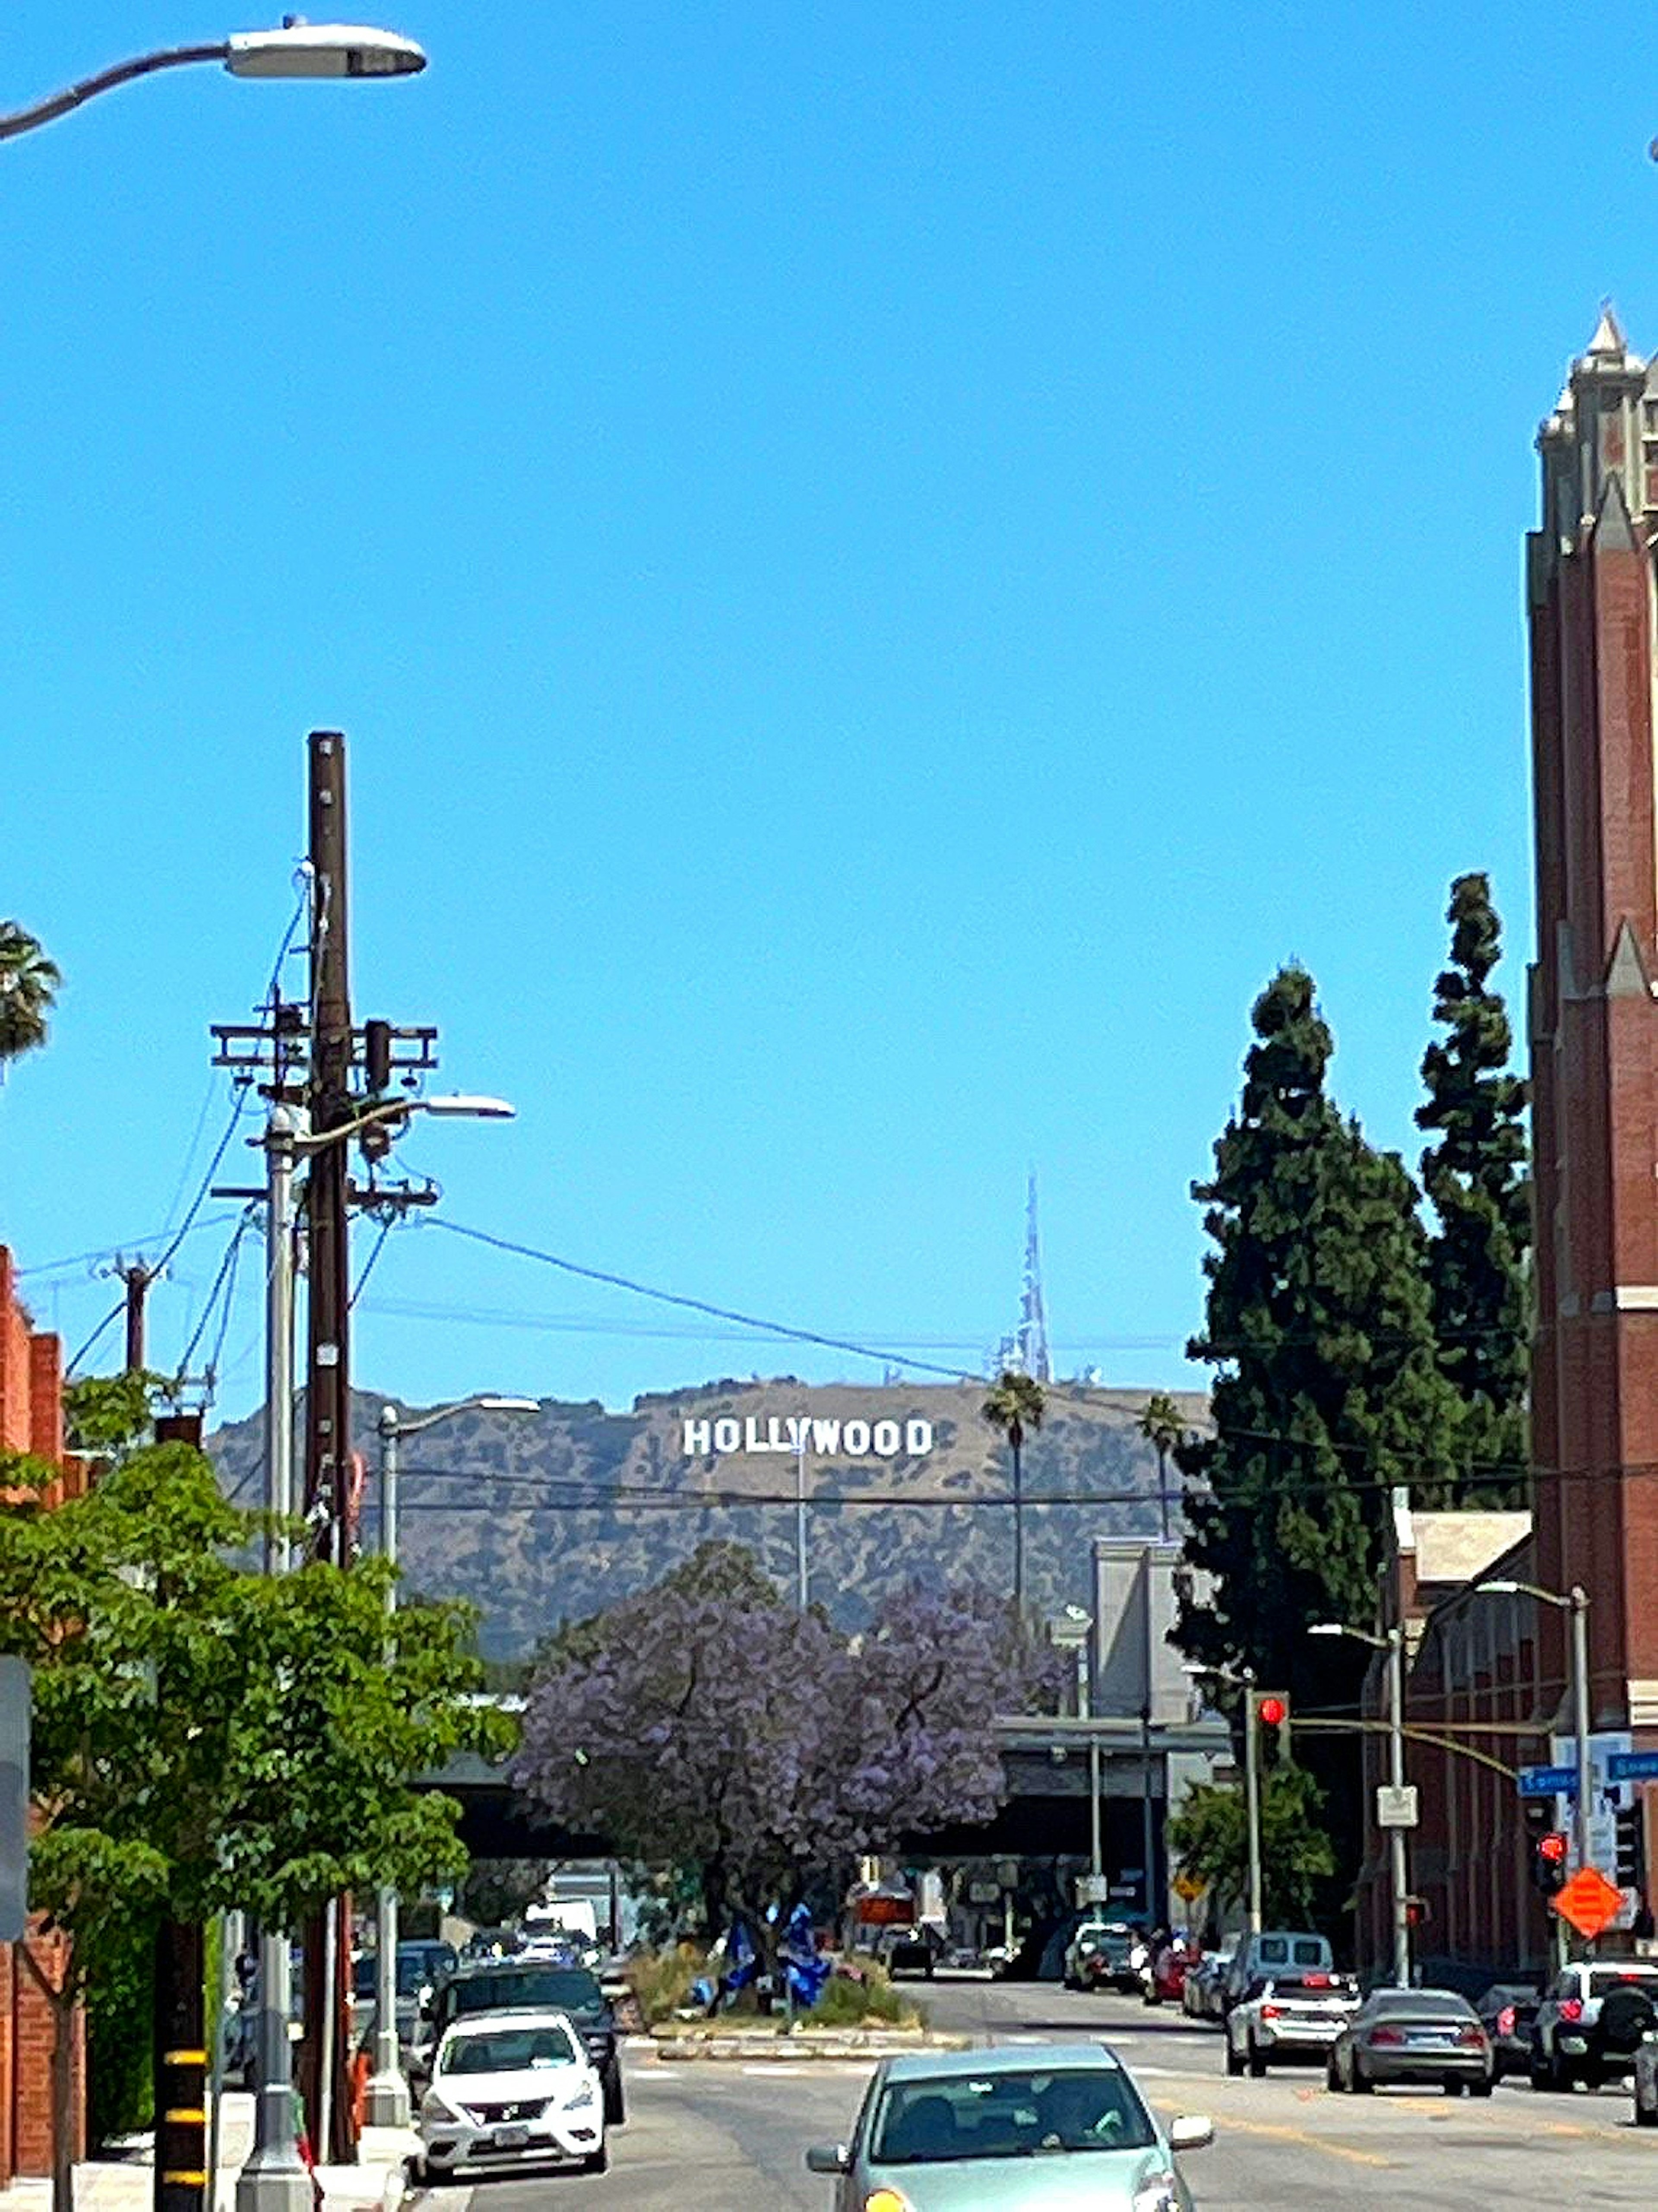
M 62 1467 L 55 1498 L 75 1495 L 84 1473 L 64 1453 L 62 1345 L 35 1329 L 18 1303 L 11 1252 L 0 1245 L 0 1451 L 27 1451 Z M 33 1966 L 57 1980 L 55 1938 L 33 1940 Z M 0 2188 L 15 2174 L 51 2172 L 53 2015 L 22 1944 L 0 1944 Z M 84 2157 L 84 2046 L 75 2037 L 75 2157 Z

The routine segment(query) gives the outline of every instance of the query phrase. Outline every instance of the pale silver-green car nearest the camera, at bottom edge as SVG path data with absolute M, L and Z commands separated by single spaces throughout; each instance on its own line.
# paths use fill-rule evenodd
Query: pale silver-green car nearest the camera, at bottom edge
M 1192 2212 L 1174 2161 L 1209 2141 L 1165 2130 L 1105 2044 L 1004 2044 L 880 2059 L 851 2141 L 807 2166 L 836 2212 Z

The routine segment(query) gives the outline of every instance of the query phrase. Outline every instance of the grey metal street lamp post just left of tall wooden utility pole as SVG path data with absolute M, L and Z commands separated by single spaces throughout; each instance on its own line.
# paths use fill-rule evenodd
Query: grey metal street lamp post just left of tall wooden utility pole
M 329 1130 L 303 1130 L 292 1106 L 274 1104 L 265 1135 L 250 1139 L 265 1152 L 265 1573 L 285 1575 L 292 1542 L 285 1522 L 294 1513 L 294 1168 L 298 1159 L 365 1128 L 402 1121 L 409 1115 L 464 1115 L 511 1119 L 504 1099 L 436 1097 L 387 1099 L 354 1121 Z M 312 2177 L 298 2159 L 294 2137 L 294 2048 L 287 2035 L 292 2002 L 292 1953 L 287 1929 L 259 1931 L 259 2026 L 254 2064 L 254 2143 L 237 2179 L 237 2212 L 312 2212 Z

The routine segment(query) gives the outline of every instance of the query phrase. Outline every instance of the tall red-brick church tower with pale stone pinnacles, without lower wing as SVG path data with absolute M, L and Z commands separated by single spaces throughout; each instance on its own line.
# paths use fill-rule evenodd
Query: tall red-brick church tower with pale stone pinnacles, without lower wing
M 1594 1723 L 1658 1728 L 1658 363 L 1609 307 L 1536 445 L 1536 1571 L 1589 1593 Z

